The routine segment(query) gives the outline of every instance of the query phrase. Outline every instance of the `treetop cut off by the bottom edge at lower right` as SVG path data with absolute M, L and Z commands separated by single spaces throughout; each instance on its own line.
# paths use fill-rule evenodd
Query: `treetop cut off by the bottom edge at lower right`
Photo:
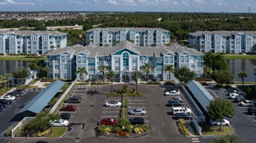
M 210 143 L 246 143 L 243 139 L 238 139 L 237 135 L 224 135 L 222 137 L 217 137 L 215 139 L 211 139 Z

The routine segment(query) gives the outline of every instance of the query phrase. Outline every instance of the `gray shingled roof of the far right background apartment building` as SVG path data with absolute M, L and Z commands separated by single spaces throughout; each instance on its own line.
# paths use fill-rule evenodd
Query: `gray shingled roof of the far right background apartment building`
M 193 33 L 189 33 L 191 36 L 202 36 L 206 34 L 220 34 L 222 36 L 231 36 L 236 35 L 238 33 L 241 34 L 251 34 L 252 36 L 256 36 L 256 31 L 195 31 Z

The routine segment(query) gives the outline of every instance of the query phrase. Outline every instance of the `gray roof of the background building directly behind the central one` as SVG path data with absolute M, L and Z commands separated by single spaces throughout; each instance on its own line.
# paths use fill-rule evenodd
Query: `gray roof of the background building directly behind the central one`
M 121 30 L 126 30 L 126 29 L 140 31 L 140 32 L 147 31 L 147 30 L 153 30 L 153 31 L 161 30 L 163 32 L 170 32 L 170 31 L 168 31 L 166 29 L 148 28 L 148 27 L 107 27 L 107 28 L 89 29 L 86 32 L 95 31 L 95 30 L 99 30 L 99 31 L 103 31 L 103 30 L 107 30 L 107 31 L 121 31 Z

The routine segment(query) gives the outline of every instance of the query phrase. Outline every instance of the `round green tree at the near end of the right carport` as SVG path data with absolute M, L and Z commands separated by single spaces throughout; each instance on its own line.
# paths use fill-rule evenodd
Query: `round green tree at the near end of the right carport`
M 222 98 L 214 98 L 213 100 L 210 100 L 207 110 L 210 118 L 213 120 L 222 120 L 224 119 L 224 115 L 227 114 L 231 116 L 235 115 L 234 105 L 229 100 Z M 222 124 L 220 123 L 220 129 L 221 125 Z

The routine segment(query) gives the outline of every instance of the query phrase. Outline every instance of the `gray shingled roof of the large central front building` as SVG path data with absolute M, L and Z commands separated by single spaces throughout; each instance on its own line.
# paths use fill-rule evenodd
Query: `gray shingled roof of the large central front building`
M 140 54 L 141 56 L 163 57 L 163 54 L 181 54 L 184 52 L 191 55 L 203 55 L 201 52 L 188 47 L 180 47 L 177 45 L 171 45 L 170 47 L 166 47 L 164 45 L 158 45 L 156 47 L 139 47 L 134 43 L 130 43 L 129 41 L 119 43 L 113 47 L 97 47 L 96 45 L 88 45 L 83 47 L 82 45 L 73 45 L 72 47 L 64 47 L 62 49 L 53 50 L 46 55 L 59 55 L 66 52 L 69 54 L 83 53 L 87 54 L 88 57 L 109 56 L 123 49 L 131 50 L 137 54 Z

